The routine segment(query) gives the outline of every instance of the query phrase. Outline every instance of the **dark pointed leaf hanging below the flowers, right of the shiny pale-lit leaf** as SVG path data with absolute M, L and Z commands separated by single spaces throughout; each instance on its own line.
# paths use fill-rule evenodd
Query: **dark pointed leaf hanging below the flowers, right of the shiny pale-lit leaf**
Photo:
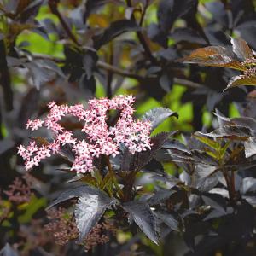
M 126 212 L 130 214 L 136 224 L 143 230 L 151 241 L 158 244 L 159 237 L 157 234 L 156 221 L 154 213 L 147 203 L 143 201 L 129 201 L 122 205 Z

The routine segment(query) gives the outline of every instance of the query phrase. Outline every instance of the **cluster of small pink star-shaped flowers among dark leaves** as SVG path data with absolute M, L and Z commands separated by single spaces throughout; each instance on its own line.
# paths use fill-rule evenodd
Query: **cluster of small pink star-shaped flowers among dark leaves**
M 53 132 L 55 139 L 43 146 L 37 146 L 33 141 L 25 148 L 18 147 L 18 153 L 26 160 L 26 170 L 49 157 L 50 154 L 60 152 L 61 146 L 69 144 L 73 148 L 75 160 L 72 171 L 91 172 L 93 170 L 93 158 L 101 154 L 115 157 L 120 153 L 120 144 L 125 144 L 131 154 L 141 152 L 151 147 L 149 122 L 134 120 L 132 114 L 134 108 L 133 96 L 115 96 L 113 99 L 107 98 L 93 99 L 88 102 L 88 108 L 84 109 L 82 104 L 68 107 L 58 106 L 55 102 L 49 103 L 49 113 L 44 120 L 28 120 L 27 129 L 32 131 L 39 127 L 46 127 Z M 114 126 L 108 126 L 108 111 L 119 110 L 119 119 Z M 64 116 L 74 116 L 84 123 L 81 130 L 84 132 L 84 139 L 79 141 L 73 136 L 72 131 L 67 131 L 59 123 Z

